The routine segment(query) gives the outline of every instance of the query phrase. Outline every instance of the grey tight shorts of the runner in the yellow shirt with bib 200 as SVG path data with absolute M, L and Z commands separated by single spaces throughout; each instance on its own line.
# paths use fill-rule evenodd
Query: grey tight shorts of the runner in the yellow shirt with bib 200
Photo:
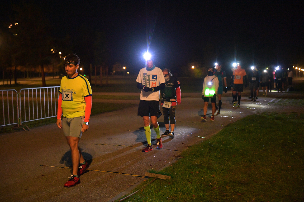
M 62 128 L 64 136 L 81 137 L 81 126 L 85 121 L 84 116 L 74 117 L 74 118 L 62 118 Z

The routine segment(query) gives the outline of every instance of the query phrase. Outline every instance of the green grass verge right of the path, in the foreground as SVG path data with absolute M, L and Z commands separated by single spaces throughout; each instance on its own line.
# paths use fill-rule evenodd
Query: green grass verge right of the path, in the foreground
M 304 114 L 247 116 L 182 152 L 163 170 L 170 181 L 126 201 L 303 201 L 303 129 Z

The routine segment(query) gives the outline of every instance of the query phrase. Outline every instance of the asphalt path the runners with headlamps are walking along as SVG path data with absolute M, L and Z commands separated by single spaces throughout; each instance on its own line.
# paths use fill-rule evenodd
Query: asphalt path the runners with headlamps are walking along
M 304 111 L 303 107 L 278 105 L 287 99 L 284 96 L 290 96 L 284 93 L 272 93 L 271 97 L 259 97 L 257 102 L 252 102 L 247 99 L 248 92 L 244 92 L 240 108 L 233 108 L 230 95 L 231 91 L 223 95 L 221 114 L 215 117 L 215 121 L 209 121 L 209 105 L 207 121 L 201 122 L 201 93 L 182 93 L 182 104 L 176 111 L 174 139 L 163 138 L 161 150 L 157 150 L 155 141 L 152 141 L 154 149 L 147 153 L 141 152 L 146 137 L 143 120 L 137 116 L 137 106 L 92 116 L 90 127 L 80 141 L 85 159 L 91 159 L 91 171 L 82 175 L 81 183 L 71 188 L 63 186 L 71 169 L 61 168 L 71 167 L 71 153 L 62 130 L 55 124 L 27 132 L 2 134 L 0 201 L 112 201 L 121 192 L 144 180 L 140 176 L 144 176 L 146 171 L 159 170 L 174 162 L 181 151 L 207 140 L 227 124 L 263 111 Z M 161 132 L 164 132 L 163 116 L 158 121 Z M 152 139 L 156 138 L 153 128 L 151 133 Z

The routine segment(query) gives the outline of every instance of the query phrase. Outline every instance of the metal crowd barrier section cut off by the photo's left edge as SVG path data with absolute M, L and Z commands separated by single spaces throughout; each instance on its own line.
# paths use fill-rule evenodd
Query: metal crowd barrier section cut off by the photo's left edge
M 18 108 L 18 93 L 15 89 L 0 90 L 2 95 L 2 115 L 3 120 L 0 118 L 0 127 L 18 124 L 19 126 L 19 108 Z M 6 93 L 5 93 L 6 92 Z M 15 95 L 14 95 L 15 94 Z M 14 104 L 14 96 L 16 96 L 16 104 Z M 16 119 L 15 119 L 16 118 Z

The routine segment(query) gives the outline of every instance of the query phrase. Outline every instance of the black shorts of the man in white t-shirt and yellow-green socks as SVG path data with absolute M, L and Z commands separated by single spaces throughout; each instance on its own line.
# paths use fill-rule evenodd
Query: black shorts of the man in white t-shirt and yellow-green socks
M 137 116 L 156 116 L 159 118 L 161 111 L 159 110 L 159 101 L 156 100 L 140 100 L 137 110 Z

